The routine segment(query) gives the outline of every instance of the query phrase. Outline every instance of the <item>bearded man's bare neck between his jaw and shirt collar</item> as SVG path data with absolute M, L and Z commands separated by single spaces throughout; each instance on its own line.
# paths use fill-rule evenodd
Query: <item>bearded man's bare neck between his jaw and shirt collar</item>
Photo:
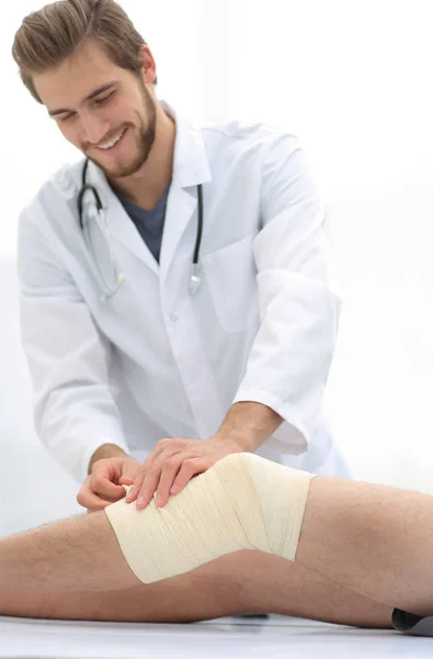
M 169 185 L 173 172 L 175 122 L 157 103 L 157 123 L 152 148 L 138 171 L 110 183 L 124 197 L 144 209 L 152 209 Z

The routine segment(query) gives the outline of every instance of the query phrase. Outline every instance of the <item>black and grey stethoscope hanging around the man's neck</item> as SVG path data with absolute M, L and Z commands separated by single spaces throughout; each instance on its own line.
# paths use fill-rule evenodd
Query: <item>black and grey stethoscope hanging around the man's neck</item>
M 81 190 L 78 194 L 78 216 L 80 230 L 87 244 L 91 266 L 96 272 L 102 289 L 101 300 L 106 301 L 118 290 L 126 277 L 118 271 L 113 254 L 112 241 L 106 223 L 105 209 L 94 186 L 87 182 L 89 158 L 86 158 L 81 176 Z M 91 199 L 89 200 L 89 194 Z M 197 186 L 198 221 L 195 238 L 192 273 L 189 282 L 190 295 L 195 295 L 202 283 L 198 266 L 200 246 L 203 233 L 203 190 Z M 100 246 L 96 245 L 100 243 Z

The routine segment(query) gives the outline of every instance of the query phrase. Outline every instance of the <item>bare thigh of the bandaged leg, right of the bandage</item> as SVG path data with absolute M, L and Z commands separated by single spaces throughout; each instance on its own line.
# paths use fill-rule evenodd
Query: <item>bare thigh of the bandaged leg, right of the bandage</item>
M 312 480 L 296 561 L 418 615 L 433 614 L 433 496 Z

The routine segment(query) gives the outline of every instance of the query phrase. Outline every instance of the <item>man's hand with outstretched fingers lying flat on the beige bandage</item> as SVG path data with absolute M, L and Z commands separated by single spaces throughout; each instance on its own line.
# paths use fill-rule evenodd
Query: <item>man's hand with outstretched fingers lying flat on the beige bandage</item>
M 126 501 L 137 500 L 137 509 L 144 509 L 157 492 L 156 503 L 162 507 L 170 494 L 179 494 L 193 476 L 207 471 L 225 456 L 242 450 L 239 444 L 218 437 L 161 439 L 140 467 Z

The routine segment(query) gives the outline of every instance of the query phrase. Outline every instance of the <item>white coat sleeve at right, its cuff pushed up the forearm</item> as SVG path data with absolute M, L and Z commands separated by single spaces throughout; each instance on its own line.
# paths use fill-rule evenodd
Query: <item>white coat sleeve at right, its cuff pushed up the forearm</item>
M 233 402 L 277 412 L 286 424 L 271 448 L 298 455 L 317 424 L 341 300 L 329 283 L 323 208 L 293 136 L 273 138 L 263 153 L 261 216 L 253 244 L 261 325 Z

